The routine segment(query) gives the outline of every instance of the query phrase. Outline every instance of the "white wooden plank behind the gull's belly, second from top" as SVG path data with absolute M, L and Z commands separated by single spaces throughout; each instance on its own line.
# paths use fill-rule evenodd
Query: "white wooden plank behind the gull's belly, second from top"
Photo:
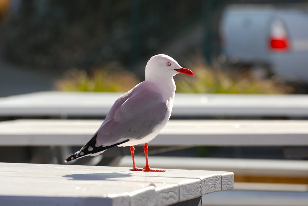
M 103 120 L 0 122 L 2 146 L 83 146 Z M 308 120 L 169 120 L 150 146 L 307 146 Z

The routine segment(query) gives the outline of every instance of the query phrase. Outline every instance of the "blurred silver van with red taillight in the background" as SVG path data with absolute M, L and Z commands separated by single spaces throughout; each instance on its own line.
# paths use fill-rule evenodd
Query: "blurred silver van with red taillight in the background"
M 226 63 L 308 84 L 308 4 L 226 6 L 220 37 Z

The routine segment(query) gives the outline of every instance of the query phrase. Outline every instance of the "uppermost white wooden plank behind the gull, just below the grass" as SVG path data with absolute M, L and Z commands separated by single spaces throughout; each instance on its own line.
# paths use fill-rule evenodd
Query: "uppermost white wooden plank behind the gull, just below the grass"
M 47 91 L 0 98 L 0 116 L 106 116 L 122 93 Z M 172 116 L 308 116 L 308 95 L 183 94 Z

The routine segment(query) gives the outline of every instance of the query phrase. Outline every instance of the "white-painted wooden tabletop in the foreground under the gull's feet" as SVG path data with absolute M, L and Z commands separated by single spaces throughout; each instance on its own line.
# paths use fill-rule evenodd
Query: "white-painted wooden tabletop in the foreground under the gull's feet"
M 221 176 L 232 179 L 232 172 L 18 163 L 0 168 L 3 205 L 169 205 L 203 195 L 201 182 L 207 178 L 233 188 L 233 182 L 221 181 Z M 218 191 L 221 187 L 211 192 Z

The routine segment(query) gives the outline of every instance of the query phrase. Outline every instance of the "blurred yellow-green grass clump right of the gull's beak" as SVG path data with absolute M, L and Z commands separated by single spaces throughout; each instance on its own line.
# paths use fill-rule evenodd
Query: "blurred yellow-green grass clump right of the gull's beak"
M 249 72 L 213 69 L 202 58 L 195 59 L 187 68 L 194 76 L 176 75 L 176 91 L 182 93 L 224 94 L 284 94 L 291 88 L 278 84 L 275 79 L 257 79 Z

